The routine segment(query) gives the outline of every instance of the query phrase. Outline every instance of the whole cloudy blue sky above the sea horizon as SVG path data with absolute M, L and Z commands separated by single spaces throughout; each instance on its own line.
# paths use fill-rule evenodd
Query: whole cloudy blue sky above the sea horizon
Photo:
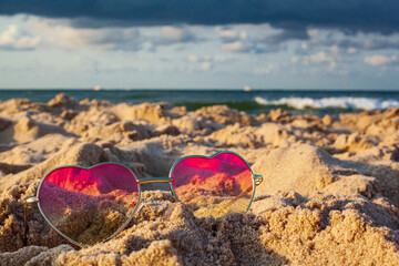
M 0 0 L 0 89 L 399 90 L 399 0 Z

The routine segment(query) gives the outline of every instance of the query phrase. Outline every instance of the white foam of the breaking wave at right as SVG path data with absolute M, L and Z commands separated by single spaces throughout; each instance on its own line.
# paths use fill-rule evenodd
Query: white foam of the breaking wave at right
M 362 110 L 376 110 L 376 109 L 389 109 L 399 106 L 397 100 L 380 100 L 371 98 L 282 98 L 274 101 L 268 101 L 264 98 L 256 96 L 255 102 L 263 105 L 288 105 L 295 109 L 326 109 L 326 108 L 341 108 L 341 109 L 362 109 Z

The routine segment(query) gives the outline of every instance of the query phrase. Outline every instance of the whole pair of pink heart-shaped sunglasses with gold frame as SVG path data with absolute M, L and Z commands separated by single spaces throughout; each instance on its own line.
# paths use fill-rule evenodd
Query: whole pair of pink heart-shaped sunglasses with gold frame
M 113 238 L 129 224 L 142 206 L 141 184 L 167 182 L 174 200 L 186 204 L 196 217 L 216 218 L 228 212 L 246 213 L 262 181 L 233 152 L 182 157 L 168 177 L 146 180 L 119 163 L 57 167 L 45 174 L 37 196 L 27 200 L 23 243 L 27 245 L 31 203 L 38 203 L 44 219 L 61 236 L 86 247 Z

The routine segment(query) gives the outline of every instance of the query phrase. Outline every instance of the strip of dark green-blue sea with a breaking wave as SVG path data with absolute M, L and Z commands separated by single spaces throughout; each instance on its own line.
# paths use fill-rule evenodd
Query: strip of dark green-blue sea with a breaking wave
M 184 105 L 188 111 L 226 104 L 248 113 L 267 113 L 280 108 L 294 114 L 338 115 L 399 106 L 399 91 L 341 90 L 0 90 L 0 101 L 25 98 L 31 102 L 47 102 L 61 92 L 78 101 L 98 99 L 132 104 L 164 101 Z

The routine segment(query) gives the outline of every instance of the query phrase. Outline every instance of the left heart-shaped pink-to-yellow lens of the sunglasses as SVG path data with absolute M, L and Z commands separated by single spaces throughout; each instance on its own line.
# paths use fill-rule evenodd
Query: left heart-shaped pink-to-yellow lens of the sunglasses
M 39 190 L 44 217 L 83 245 L 105 241 L 130 218 L 139 201 L 133 173 L 114 163 L 51 171 Z

